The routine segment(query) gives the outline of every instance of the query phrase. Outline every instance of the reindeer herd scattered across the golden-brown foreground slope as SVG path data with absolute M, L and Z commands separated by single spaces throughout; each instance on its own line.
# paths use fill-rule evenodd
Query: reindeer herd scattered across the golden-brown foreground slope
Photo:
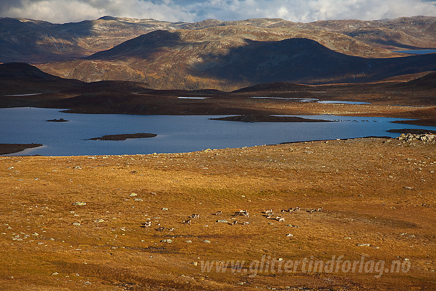
M 290 208 L 287 208 L 287 209 L 282 209 L 280 212 L 281 213 L 284 213 L 284 212 L 293 213 L 293 212 L 299 212 L 300 209 L 301 209 L 300 207 L 295 207 L 295 208 L 290 207 Z M 320 212 L 322 210 L 323 210 L 323 207 L 319 207 L 319 208 L 308 209 L 308 210 L 306 210 L 306 212 L 309 212 L 310 214 L 312 214 L 313 212 Z M 222 213 L 223 213 L 223 211 L 220 210 L 220 211 L 216 211 L 214 215 L 215 216 L 220 216 L 220 215 L 222 215 Z M 284 222 L 285 221 L 285 218 L 282 217 L 282 216 L 275 216 L 274 217 L 274 211 L 272 209 L 266 209 L 266 210 L 262 211 L 262 214 L 263 214 L 263 217 L 266 217 L 267 219 L 270 219 L 270 220 L 275 220 L 275 221 L 278 221 L 278 222 Z M 237 224 L 236 217 L 249 218 L 250 216 L 249 216 L 249 213 L 248 213 L 248 211 L 246 209 L 244 209 L 244 210 L 241 209 L 241 210 L 235 211 L 235 212 L 233 212 L 233 215 L 232 215 L 232 221 L 229 222 L 228 224 L 229 225 L 236 225 Z M 185 225 L 191 225 L 191 220 L 192 219 L 200 219 L 200 214 L 192 214 L 188 218 L 189 219 L 187 219 L 187 220 L 182 220 L 181 223 L 185 224 Z M 145 223 L 141 223 L 141 224 L 142 224 L 141 227 L 148 228 L 148 227 L 151 226 L 151 221 L 146 221 Z M 248 224 L 250 224 L 250 222 L 249 221 L 244 221 L 244 222 L 242 222 L 240 224 L 248 225 Z M 156 228 L 157 231 L 163 231 L 165 229 L 165 227 L 162 227 L 160 225 L 161 225 L 160 223 L 157 224 L 157 228 Z M 174 229 L 174 227 L 173 228 L 169 228 L 168 230 L 171 231 L 173 229 Z

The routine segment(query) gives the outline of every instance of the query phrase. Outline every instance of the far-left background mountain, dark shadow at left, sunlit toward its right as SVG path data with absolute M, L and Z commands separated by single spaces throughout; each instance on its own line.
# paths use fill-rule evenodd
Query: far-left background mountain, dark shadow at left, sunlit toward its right
M 156 29 L 183 23 L 104 16 L 98 20 L 53 24 L 25 18 L 0 18 L 0 62 L 50 62 L 112 48 Z

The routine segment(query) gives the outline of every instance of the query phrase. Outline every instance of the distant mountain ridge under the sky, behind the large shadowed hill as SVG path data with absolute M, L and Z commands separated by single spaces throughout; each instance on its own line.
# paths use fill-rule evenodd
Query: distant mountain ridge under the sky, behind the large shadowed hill
M 98 20 L 52 24 L 26 18 L 0 17 L 0 62 L 42 63 L 62 61 L 110 49 L 134 37 L 155 30 L 201 30 L 212 27 L 251 26 L 294 30 L 313 39 L 321 35 L 334 49 L 335 35 L 349 37 L 367 46 L 388 50 L 436 48 L 436 17 L 400 17 L 380 21 L 317 21 L 294 23 L 280 18 L 253 18 L 241 21 L 205 20 L 196 23 L 165 22 L 103 16 Z M 278 32 L 280 33 L 280 31 Z M 340 47 L 340 46 L 339 46 Z M 358 50 L 350 52 L 359 54 Z M 362 52 L 364 53 L 364 52 Z M 374 53 L 374 52 L 373 52 Z M 387 56 L 379 50 L 377 57 Z M 391 54 L 392 55 L 392 54 Z

